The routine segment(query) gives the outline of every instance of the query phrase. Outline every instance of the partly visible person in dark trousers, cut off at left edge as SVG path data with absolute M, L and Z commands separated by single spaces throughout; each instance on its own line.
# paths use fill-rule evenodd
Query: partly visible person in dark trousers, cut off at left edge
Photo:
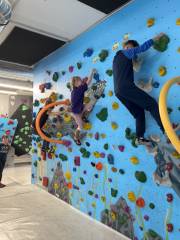
M 9 151 L 9 139 L 7 136 L 2 136 L 2 143 L 0 143 L 0 188 L 4 188 L 6 186 L 1 182 L 1 180 L 8 151 Z

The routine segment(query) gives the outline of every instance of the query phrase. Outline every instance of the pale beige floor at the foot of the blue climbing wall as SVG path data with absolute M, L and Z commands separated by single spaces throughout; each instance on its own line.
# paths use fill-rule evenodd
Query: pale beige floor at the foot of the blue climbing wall
M 0 190 L 0 240 L 125 240 L 30 184 L 30 166 L 8 168 Z

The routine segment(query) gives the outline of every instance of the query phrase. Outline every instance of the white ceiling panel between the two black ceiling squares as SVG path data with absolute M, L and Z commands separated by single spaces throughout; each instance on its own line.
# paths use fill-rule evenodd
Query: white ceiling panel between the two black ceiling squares
M 12 22 L 62 40 L 72 40 L 105 16 L 77 0 L 17 0 Z

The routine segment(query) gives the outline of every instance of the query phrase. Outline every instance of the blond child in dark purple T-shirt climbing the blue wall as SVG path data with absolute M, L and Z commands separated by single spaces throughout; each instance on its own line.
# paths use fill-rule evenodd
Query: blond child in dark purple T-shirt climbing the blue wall
M 80 133 L 83 129 L 83 122 L 88 120 L 85 117 L 85 113 L 91 111 L 90 105 L 83 104 L 84 94 L 88 90 L 88 85 L 92 82 L 96 69 L 91 71 L 90 76 L 86 80 L 82 80 L 80 77 L 75 76 L 72 78 L 72 92 L 71 92 L 71 109 L 73 118 L 77 123 L 77 129 L 75 132 L 74 140 L 77 145 L 81 145 Z

